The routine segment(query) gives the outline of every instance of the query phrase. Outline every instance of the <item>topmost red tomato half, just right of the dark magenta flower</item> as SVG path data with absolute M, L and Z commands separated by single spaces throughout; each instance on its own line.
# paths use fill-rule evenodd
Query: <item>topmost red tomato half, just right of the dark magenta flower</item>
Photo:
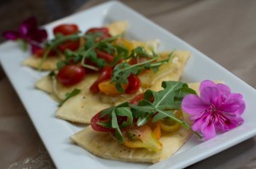
M 61 33 L 62 35 L 72 35 L 79 32 L 79 26 L 74 24 L 62 24 L 54 28 L 54 34 Z

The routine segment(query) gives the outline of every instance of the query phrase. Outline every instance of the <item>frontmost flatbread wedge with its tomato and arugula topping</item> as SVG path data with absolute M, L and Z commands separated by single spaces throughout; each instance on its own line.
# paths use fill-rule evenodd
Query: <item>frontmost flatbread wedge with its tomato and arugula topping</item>
M 182 82 L 163 82 L 163 87 L 159 92 L 148 90 L 130 103 L 100 111 L 89 127 L 71 139 L 107 159 L 152 163 L 165 160 L 191 136 L 191 131 L 181 127 L 184 122 L 190 123 L 189 116 L 181 111 L 181 100 L 195 91 Z

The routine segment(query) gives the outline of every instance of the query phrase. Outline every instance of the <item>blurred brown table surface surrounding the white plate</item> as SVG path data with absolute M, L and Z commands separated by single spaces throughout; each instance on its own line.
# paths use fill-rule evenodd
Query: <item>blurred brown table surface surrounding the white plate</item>
M 36 15 L 39 23 L 44 24 L 104 1 L 74 1 L 73 8 L 69 7 L 70 3 L 67 1 L 51 1 L 54 2 L 54 5 L 51 3 L 52 6 L 48 4 L 49 1 L 25 1 L 26 3 L 22 3 L 18 8 L 20 14 L 12 10 L 8 18 L 5 17 L 4 10 L 8 11 L 8 8 L 13 8 L 17 4 L 16 1 L 6 2 L 0 6 L 3 23 L 1 31 L 14 29 L 20 20 L 29 15 Z M 256 1 L 122 2 L 189 42 L 252 87 L 256 87 Z M 60 3 L 63 7 L 58 6 Z M 49 9 L 45 9 L 49 6 L 52 11 L 56 8 L 55 11 L 59 12 L 51 13 Z M 3 38 L 0 40 L 3 41 Z M 54 167 L 3 70 L 0 70 L 0 79 L 0 168 L 15 168 L 15 165 L 20 168 L 22 165 L 32 168 Z M 44 161 L 32 162 L 39 157 Z M 24 163 L 26 161 L 28 162 Z M 256 168 L 256 138 L 250 138 L 188 168 Z

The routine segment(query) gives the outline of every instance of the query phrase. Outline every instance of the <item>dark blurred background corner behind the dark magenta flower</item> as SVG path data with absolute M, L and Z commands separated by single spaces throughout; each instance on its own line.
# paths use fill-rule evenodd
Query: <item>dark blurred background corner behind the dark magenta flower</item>
M 0 0 L 0 31 L 15 30 L 20 21 L 30 16 L 38 19 L 39 25 L 73 14 L 88 0 Z M 0 42 L 4 39 L 1 36 Z

